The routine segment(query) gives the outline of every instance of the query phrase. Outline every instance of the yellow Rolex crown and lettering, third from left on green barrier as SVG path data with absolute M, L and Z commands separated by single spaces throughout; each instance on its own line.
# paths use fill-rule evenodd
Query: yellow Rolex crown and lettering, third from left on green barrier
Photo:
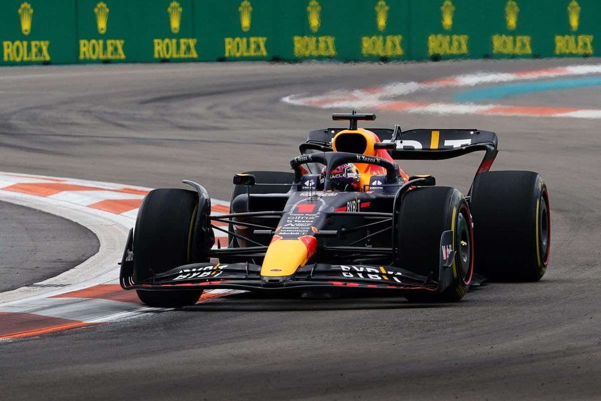
M 182 23 L 183 8 L 177 1 L 172 1 L 167 7 L 169 28 L 177 34 Z M 195 38 L 164 38 L 153 39 L 154 58 L 170 60 L 172 58 L 198 58 Z

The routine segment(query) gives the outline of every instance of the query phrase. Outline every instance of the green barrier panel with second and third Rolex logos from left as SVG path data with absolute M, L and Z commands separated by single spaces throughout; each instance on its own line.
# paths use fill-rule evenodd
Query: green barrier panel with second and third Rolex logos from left
M 80 63 L 196 61 L 192 0 L 78 0 Z

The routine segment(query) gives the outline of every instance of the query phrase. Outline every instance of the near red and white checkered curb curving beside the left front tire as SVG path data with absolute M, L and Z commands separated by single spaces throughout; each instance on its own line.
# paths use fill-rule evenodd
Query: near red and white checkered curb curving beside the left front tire
M 118 284 L 127 233 L 150 188 L 60 177 L 0 172 L 0 200 L 52 213 L 89 228 L 99 251 L 81 265 L 48 280 L 0 293 L 0 340 L 114 322 L 165 311 L 145 307 Z M 229 204 L 212 199 L 213 214 Z M 227 246 L 227 234 L 215 230 Z M 1 244 L 0 244 L 1 246 Z M 238 291 L 209 290 L 199 302 Z

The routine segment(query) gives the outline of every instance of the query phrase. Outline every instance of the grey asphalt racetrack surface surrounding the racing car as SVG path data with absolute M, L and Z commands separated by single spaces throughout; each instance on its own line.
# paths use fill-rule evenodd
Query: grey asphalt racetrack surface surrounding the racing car
M 333 125 L 331 111 L 282 96 L 578 63 L 599 60 L 2 69 L 0 170 L 151 187 L 188 178 L 227 200 L 232 174 L 285 171 L 308 130 Z M 517 101 L 599 108 L 601 95 Z M 395 123 L 494 130 L 493 170 L 545 177 L 553 238 L 542 281 L 483 285 L 447 305 L 237 295 L 12 341 L 0 344 L 0 399 L 599 399 L 598 120 L 379 112 L 374 126 Z M 401 167 L 465 189 L 477 164 Z

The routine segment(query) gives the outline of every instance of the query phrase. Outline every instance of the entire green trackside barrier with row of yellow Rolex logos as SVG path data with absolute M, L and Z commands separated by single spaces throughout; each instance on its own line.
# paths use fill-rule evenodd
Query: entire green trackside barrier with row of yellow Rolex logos
M 0 0 L 2 65 L 586 57 L 594 0 Z

